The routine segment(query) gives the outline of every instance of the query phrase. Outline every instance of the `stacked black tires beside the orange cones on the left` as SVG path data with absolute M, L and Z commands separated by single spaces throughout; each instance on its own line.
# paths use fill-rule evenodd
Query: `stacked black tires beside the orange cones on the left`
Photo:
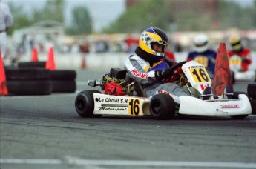
M 74 93 L 75 70 L 47 70 L 46 62 L 19 62 L 17 67 L 5 67 L 10 95 L 49 95 Z

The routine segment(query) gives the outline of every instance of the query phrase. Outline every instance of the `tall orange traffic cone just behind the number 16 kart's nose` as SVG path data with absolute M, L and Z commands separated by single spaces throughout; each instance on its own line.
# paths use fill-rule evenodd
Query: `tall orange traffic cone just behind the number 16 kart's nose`
M 229 58 L 225 43 L 220 43 L 217 49 L 217 57 L 214 72 L 213 93 L 221 96 L 224 87 L 229 86 L 233 91 L 232 77 L 229 70 Z

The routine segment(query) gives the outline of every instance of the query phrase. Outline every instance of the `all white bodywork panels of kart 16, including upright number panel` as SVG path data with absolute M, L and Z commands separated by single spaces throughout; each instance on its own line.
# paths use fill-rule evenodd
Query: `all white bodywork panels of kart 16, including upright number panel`
M 191 88 L 202 94 L 211 86 L 211 79 L 205 67 L 197 62 L 186 62 L 182 66 Z M 194 95 L 195 91 L 191 91 Z M 195 96 L 195 95 L 194 95 Z M 240 94 L 238 99 L 202 100 L 194 96 L 179 96 L 180 107 L 177 113 L 201 116 L 236 116 L 252 114 L 248 97 Z M 221 97 L 220 97 L 221 98 Z M 144 116 L 151 115 L 151 98 L 137 96 L 113 96 L 93 93 L 95 115 Z

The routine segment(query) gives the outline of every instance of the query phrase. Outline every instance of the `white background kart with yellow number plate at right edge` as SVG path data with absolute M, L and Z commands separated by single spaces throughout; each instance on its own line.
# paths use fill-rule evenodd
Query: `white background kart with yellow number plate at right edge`
M 242 59 L 240 56 L 234 55 L 229 58 L 229 69 L 232 72 L 233 82 L 237 81 L 251 81 L 256 82 L 255 70 L 242 70 Z

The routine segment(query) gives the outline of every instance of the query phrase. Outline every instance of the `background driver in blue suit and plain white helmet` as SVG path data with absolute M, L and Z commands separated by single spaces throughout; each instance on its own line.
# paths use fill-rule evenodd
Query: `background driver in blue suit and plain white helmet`
M 197 35 L 194 38 L 194 50 L 188 53 L 187 61 L 194 60 L 199 64 L 203 64 L 206 70 L 210 70 L 212 75 L 214 75 L 215 61 L 217 53 L 209 49 L 209 37 L 205 34 Z

